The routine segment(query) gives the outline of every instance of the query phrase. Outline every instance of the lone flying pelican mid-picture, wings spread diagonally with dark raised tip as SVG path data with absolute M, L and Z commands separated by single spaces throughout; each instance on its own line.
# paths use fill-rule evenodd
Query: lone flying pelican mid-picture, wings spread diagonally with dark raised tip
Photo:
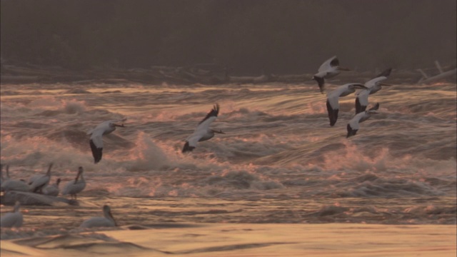
M 216 104 L 213 106 L 213 109 L 211 109 L 211 111 L 209 111 L 209 113 L 206 114 L 205 119 L 200 121 L 199 126 L 197 126 L 194 133 L 186 139 L 186 143 L 184 144 L 183 148 L 183 153 L 185 153 L 186 151 L 194 150 L 199 141 L 206 141 L 210 138 L 213 138 L 214 133 L 224 133 L 221 130 L 216 131 L 214 129 L 209 129 L 209 125 L 211 124 L 211 122 L 217 119 L 218 114 L 219 104 Z

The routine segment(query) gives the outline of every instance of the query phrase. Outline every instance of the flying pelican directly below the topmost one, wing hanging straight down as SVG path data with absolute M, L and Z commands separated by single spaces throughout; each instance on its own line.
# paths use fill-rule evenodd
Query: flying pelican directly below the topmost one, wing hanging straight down
M 356 89 L 366 89 L 366 86 L 363 86 L 363 84 L 360 83 L 345 84 L 343 86 L 338 86 L 335 90 L 327 94 L 327 111 L 328 119 L 330 119 L 330 126 L 335 125 L 336 120 L 338 119 L 338 111 L 340 108 L 338 99 L 341 96 L 352 94 Z

